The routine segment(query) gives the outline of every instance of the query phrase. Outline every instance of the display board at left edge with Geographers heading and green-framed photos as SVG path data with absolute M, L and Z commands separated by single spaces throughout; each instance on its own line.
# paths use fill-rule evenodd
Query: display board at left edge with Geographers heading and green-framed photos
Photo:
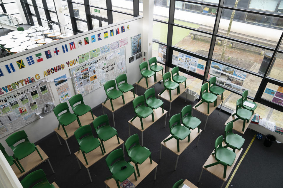
M 40 80 L 0 97 L 0 138 L 52 111 L 54 96 L 47 80 Z

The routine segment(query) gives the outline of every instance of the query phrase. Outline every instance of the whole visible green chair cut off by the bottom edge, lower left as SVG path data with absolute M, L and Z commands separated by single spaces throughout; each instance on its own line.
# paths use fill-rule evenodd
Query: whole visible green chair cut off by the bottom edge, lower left
M 22 179 L 21 184 L 23 188 L 55 188 L 53 184 L 49 184 L 42 169 L 29 173 Z

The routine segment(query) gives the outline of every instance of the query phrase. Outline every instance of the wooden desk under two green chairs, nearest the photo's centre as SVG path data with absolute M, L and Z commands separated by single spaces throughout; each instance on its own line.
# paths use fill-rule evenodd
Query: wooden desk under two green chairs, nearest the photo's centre
M 165 115 L 165 123 L 164 123 L 164 127 L 166 125 L 166 113 L 167 111 L 164 110 L 164 113 L 162 113 L 162 108 L 159 107 L 157 109 L 153 109 L 153 115 L 154 115 L 154 121 L 152 121 L 152 116 L 149 115 L 146 118 L 142 119 L 142 124 L 144 129 L 141 129 L 141 120 L 139 117 L 136 117 L 136 119 L 134 119 L 134 121 L 131 122 L 131 120 L 128 121 L 129 123 L 129 135 L 131 136 L 131 131 L 130 131 L 130 124 L 133 125 L 134 127 L 136 127 L 138 130 L 141 131 L 141 145 L 143 146 L 144 144 L 144 131 L 150 127 L 153 123 L 155 123 L 157 120 L 159 120 L 162 116 Z

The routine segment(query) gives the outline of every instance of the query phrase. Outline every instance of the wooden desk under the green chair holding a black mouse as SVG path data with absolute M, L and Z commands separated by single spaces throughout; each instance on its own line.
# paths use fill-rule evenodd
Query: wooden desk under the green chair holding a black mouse
M 131 162 L 131 164 L 134 166 L 134 168 L 136 170 L 135 164 L 133 162 Z M 153 160 L 152 160 L 152 164 L 151 164 L 149 158 L 147 158 L 147 160 L 145 160 L 143 163 L 141 163 L 141 165 L 139 165 L 139 173 L 140 173 L 141 176 L 136 176 L 136 178 L 137 178 L 137 180 L 136 180 L 134 174 L 132 174 L 128 179 L 135 186 L 137 186 L 155 168 L 155 174 L 154 174 L 154 180 L 155 180 L 156 179 L 156 172 L 157 172 L 157 165 L 158 164 L 156 162 L 154 162 Z M 105 180 L 104 183 L 106 184 L 106 187 L 117 188 L 116 181 L 113 178 Z M 119 184 L 121 184 L 121 182 Z

